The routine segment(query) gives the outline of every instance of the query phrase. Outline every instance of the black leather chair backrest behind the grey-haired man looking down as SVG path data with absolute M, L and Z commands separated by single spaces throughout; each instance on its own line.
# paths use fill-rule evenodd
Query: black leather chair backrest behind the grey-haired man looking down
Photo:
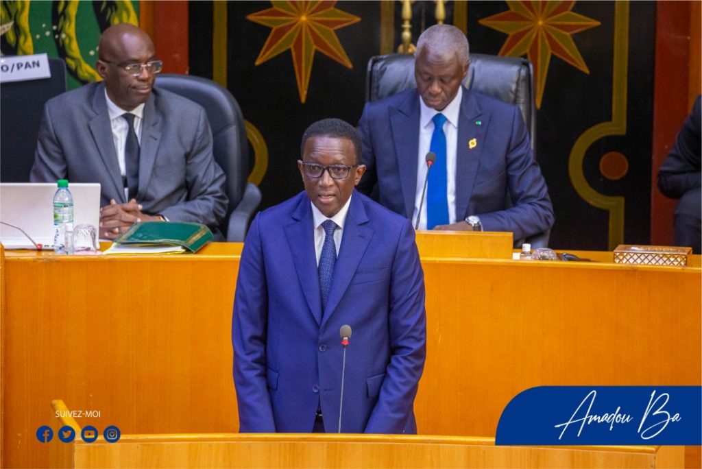
M 527 59 L 472 53 L 468 75 L 463 80 L 463 86 L 470 90 L 517 105 L 529 128 L 532 149 L 536 141 L 533 76 L 531 62 Z M 369 60 L 366 102 L 416 86 L 413 54 L 376 55 Z

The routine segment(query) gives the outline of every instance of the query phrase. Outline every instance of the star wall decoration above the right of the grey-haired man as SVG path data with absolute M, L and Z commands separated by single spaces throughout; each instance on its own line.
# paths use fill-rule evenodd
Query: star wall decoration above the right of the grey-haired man
M 599 26 L 600 22 L 571 10 L 575 1 L 508 1 L 509 11 L 479 20 L 483 26 L 509 34 L 500 55 L 527 54 L 534 64 L 536 107 L 541 107 L 551 55 L 590 74 L 572 34 Z

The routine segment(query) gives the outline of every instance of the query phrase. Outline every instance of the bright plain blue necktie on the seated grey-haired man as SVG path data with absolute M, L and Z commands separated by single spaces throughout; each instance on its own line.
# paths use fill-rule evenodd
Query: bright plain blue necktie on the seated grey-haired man
M 429 150 L 437 155 L 437 159 L 429 171 L 427 187 L 427 230 L 436 225 L 448 225 L 449 201 L 446 198 L 446 134 L 444 133 L 444 114 L 436 114 L 434 133 Z

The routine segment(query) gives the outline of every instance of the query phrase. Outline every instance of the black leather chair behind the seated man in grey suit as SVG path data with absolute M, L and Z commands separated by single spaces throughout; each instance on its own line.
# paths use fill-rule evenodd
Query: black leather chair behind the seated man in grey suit
M 178 93 L 204 107 L 213 136 L 213 155 L 227 176 L 229 209 L 220 230 L 228 242 L 243 242 L 261 201 L 249 177 L 249 144 L 241 109 L 232 93 L 212 80 L 192 75 L 160 74 L 156 87 Z

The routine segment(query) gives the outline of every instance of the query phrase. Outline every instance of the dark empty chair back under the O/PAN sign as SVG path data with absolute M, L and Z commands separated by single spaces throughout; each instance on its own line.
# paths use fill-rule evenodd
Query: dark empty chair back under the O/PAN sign
M 0 86 L 0 180 L 4 183 L 29 182 L 44 104 L 66 91 L 66 63 L 50 58 L 48 67 L 50 78 Z

